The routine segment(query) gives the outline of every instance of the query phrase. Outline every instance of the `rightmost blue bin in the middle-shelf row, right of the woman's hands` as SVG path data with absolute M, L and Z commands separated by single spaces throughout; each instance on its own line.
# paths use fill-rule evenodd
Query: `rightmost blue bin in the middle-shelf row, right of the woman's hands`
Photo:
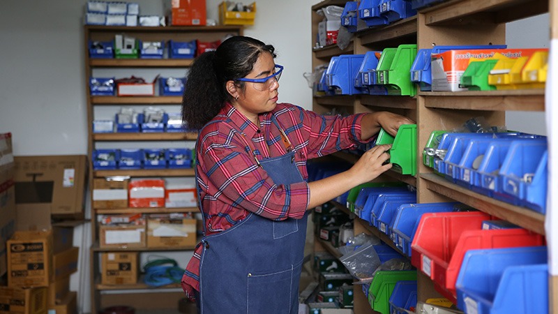
M 500 167 L 502 187 L 496 188 L 494 197 L 518 206 L 525 205 L 527 186 L 534 179 L 538 164 L 547 150 L 545 141 L 517 140 L 511 142 L 506 158 Z M 544 175 L 544 174 L 541 174 Z M 540 182 L 540 181 L 538 181 Z M 545 188 L 541 185 L 538 188 Z M 546 197 L 546 196 L 545 196 Z

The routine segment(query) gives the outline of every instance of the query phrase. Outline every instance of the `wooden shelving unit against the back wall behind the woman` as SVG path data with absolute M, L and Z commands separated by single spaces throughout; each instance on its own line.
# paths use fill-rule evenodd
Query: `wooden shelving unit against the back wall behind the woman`
M 106 72 L 107 69 L 114 69 L 119 73 L 130 70 L 133 75 L 135 68 L 158 69 L 161 73 L 169 69 L 184 69 L 192 66 L 193 59 L 90 59 L 87 45 L 89 40 L 110 41 L 114 40 L 116 34 L 127 34 L 134 36 L 140 40 L 165 41 L 175 40 L 179 42 L 188 42 L 199 39 L 207 42 L 222 40 L 225 36 L 242 35 L 243 27 L 241 26 L 218 26 L 218 27 L 104 27 L 104 26 L 85 26 L 84 27 L 84 47 L 85 47 L 85 82 L 86 91 L 89 95 L 89 77 L 93 76 L 96 69 L 101 68 Z M 149 106 L 157 107 L 174 106 L 182 103 L 181 96 L 137 96 L 137 97 L 118 97 L 118 96 L 87 96 L 87 117 L 89 131 L 89 156 L 93 149 L 98 145 L 137 145 L 137 148 L 144 148 L 144 142 L 179 142 L 186 147 L 187 142 L 193 143 L 197 139 L 197 133 L 91 133 L 93 129 L 93 120 L 96 119 L 96 108 L 102 110 L 110 110 L 110 108 L 121 106 Z M 116 113 L 118 109 L 115 109 Z M 151 144 L 151 143 L 149 143 Z M 163 147 L 165 148 L 165 147 Z M 141 170 L 93 170 L 90 166 L 91 173 L 89 175 L 90 184 L 94 178 L 103 177 L 156 177 L 156 178 L 181 178 L 194 177 L 193 168 L 187 169 L 141 169 Z M 138 310 L 153 308 L 153 304 L 160 308 L 165 308 L 168 304 L 176 304 L 183 297 L 183 292 L 179 289 L 179 284 L 165 285 L 163 287 L 150 287 L 142 282 L 139 278 L 138 283 L 134 285 L 103 285 L 100 283 L 100 253 L 107 252 L 130 252 L 149 254 L 156 252 L 159 255 L 167 252 L 185 252 L 193 251 L 195 246 L 176 246 L 161 248 L 100 248 L 99 234 L 97 227 L 98 215 L 107 214 L 172 214 L 172 213 L 195 213 L 196 207 L 184 208 L 124 208 L 124 209 L 92 209 L 91 236 L 93 246 L 91 246 L 91 313 L 98 313 L 100 308 L 114 305 L 129 305 Z M 181 261 L 183 262 L 183 261 Z M 141 269 L 139 269 L 141 271 Z M 130 293 L 127 290 L 134 290 Z M 107 293 L 110 291 L 110 293 Z M 148 294 L 156 292 L 157 299 L 161 302 L 149 302 Z

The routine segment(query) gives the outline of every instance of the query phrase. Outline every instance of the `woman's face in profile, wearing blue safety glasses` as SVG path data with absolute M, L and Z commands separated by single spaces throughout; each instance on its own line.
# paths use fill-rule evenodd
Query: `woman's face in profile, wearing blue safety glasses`
M 252 72 L 246 75 L 248 79 L 260 79 L 269 77 L 275 72 L 275 61 L 271 54 L 262 53 L 259 55 Z M 267 84 L 244 82 L 243 90 L 238 91 L 239 98 L 233 102 L 236 110 L 239 110 L 250 121 L 258 126 L 257 115 L 275 109 L 278 100 L 279 82 L 271 78 Z

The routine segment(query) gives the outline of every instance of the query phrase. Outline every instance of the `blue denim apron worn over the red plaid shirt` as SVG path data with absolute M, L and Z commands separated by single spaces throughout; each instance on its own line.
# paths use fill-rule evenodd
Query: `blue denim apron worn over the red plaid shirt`
M 259 164 L 275 184 L 303 181 L 294 151 Z M 199 313 L 298 313 L 307 220 L 308 214 L 274 221 L 250 213 L 229 229 L 203 237 Z

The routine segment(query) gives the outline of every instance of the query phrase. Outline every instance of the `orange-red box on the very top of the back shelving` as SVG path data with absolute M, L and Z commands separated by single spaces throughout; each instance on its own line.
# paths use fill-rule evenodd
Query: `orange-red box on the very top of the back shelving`
M 171 0 L 171 25 L 205 25 L 206 0 Z

